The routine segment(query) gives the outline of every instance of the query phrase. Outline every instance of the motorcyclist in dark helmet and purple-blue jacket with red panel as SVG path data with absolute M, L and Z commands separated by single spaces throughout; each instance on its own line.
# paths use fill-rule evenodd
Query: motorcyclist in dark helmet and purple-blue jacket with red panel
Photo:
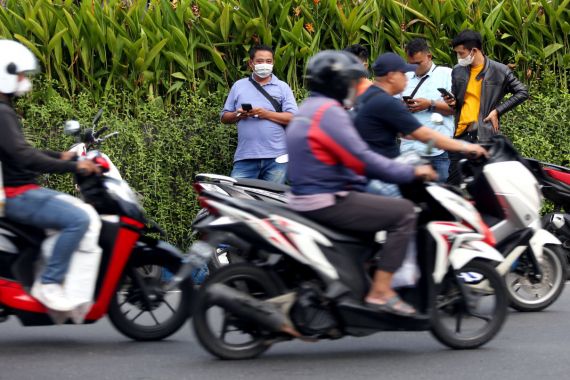
M 414 205 L 363 191 L 367 177 L 409 183 L 418 177 L 433 180 L 437 174 L 431 166 L 412 167 L 376 154 L 359 136 L 344 107 L 366 75 L 362 62 L 348 52 L 323 51 L 309 61 L 311 94 L 287 127 L 289 206 L 331 227 L 371 235 L 387 231 L 364 301 L 383 312 L 415 316 L 416 310 L 391 288 L 415 230 Z

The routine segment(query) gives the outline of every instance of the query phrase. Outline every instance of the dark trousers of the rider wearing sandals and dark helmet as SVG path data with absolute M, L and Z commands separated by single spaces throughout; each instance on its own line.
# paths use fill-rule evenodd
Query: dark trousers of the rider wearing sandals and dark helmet
M 386 243 L 378 260 L 378 269 L 390 273 L 402 265 L 416 229 L 412 202 L 368 193 L 350 192 L 346 197 L 337 197 L 333 206 L 302 214 L 323 225 L 347 231 L 373 234 L 385 230 Z

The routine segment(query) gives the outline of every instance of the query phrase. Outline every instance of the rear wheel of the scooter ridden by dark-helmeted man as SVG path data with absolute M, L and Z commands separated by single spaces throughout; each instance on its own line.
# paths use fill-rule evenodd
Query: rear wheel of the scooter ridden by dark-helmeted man
M 261 332 L 240 330 L 240 321 L 232 315 L 212 305 L 208 300 L 207 289 L 213 284 L 224 284 L 248 293 L 250 296 L 268 299 L 280 294 L 275 281 L 262 269 L 248 263 L 230 264 L 220 268 L 211 275 L 196 297 L 192 325 L 198 342 L 212 355 L 220 359 L 242 360 L 251 359 L 265 352 L 271 344 Z M 223 311 L 222 331 L 214 331 L 210 323 L 209 311 L 219 308 Z M 235 325 L 237 324 L 237 326 Z M 233 343 L 226 341 L 227 329 L 235 327 L 231 332 L 245 333 L 251 336 L 251 340 L 245 343 Z

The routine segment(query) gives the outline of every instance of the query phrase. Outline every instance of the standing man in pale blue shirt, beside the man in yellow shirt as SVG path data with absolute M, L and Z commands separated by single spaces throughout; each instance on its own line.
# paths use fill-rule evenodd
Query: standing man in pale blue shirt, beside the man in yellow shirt
M 441 91 L 451 90 L 451 69 L 436 65 L 428 43 L 423 38 L 415 38 L 406 46 L 408 63 L 417 65 L 415 72 L 408 72 L 408 84 L 402 99 L 415 118 L 424 126 L 444 136 L 453 136 L 453 109 L 443 101 Z M 426 144 L 412 139 L 402 138 L 400 152 L 415 151 L 429 156 L 436 170 L 439 181 L 447 181 L 449 175 L 449 156 L 442 149 L 427 152 Z

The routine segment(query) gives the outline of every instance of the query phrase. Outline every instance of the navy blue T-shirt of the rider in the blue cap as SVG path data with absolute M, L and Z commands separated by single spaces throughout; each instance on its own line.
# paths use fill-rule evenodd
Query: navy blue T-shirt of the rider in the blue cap
M 358 97 L 354 123 L 370 148 L 388 158 L 400 155 L 398 136 L 406 136 L 422 125 L 400 99 L 372 85 Z

